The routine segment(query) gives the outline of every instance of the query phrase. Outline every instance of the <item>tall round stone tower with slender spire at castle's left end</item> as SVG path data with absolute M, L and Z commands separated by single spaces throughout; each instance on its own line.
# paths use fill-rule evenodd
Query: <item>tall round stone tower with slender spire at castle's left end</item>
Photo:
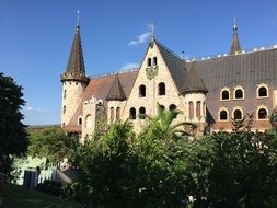
M 62 82 L 61 126 L 68 125 L 81 96 L 89 83 L 85 76 L 79 16 L 66 71 L 60 76 Z

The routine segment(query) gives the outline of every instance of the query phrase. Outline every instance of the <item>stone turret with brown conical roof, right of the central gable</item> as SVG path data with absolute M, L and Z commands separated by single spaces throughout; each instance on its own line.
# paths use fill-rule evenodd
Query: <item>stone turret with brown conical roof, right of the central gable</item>
M 197 72 L 197 63 L 192 63 L 192 69 L 184 83 L 182 94 L 185 97 L 186 120 L 198 124 L 199 130 L 205 129 L 206 124 L 206 88 L 203 79 Z

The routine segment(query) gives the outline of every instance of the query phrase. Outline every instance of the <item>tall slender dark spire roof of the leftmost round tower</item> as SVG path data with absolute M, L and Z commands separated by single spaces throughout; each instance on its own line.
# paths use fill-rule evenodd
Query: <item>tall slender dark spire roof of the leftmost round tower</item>
M 66 80 L 82 81 L 82 82 L 89 81 L 89 78 L 85 76 L 84 69 L 79 20 L 76 26 L 76 33 L 67 65 L 67 70 L 61 74 L 60 80 L 62 82 Z

